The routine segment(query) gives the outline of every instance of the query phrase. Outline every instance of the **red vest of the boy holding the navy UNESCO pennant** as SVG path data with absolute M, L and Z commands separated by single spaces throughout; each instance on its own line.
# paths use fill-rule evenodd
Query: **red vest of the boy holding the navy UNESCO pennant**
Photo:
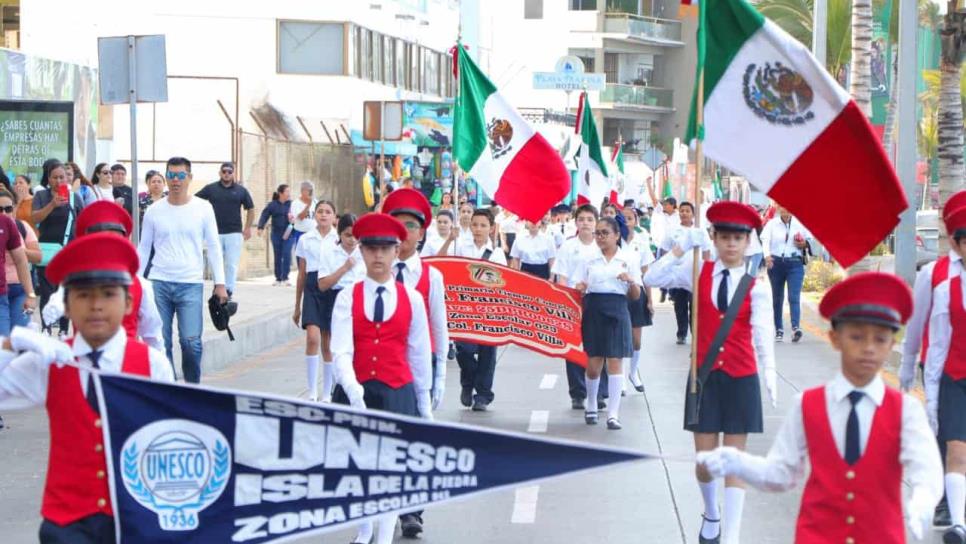
M 121 372 L 151 375 L 148 347 L 128 339 Z M 51 365 L 47 381 L 50 458 L 40 513 L 57 525 L 113 515 L 101 418 L 87 403 L 77 368 Z

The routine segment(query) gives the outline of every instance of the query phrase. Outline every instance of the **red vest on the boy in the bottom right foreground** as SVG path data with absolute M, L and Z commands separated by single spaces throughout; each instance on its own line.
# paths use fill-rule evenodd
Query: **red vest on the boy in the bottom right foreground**
M 900 544 L 902 522 L 902 394 L 886 388 L 872 418 L 865 452 L 849 466 L 832 438 L 824 387 L 802 395 L 812 473 L 798 512 L 795 542 Z

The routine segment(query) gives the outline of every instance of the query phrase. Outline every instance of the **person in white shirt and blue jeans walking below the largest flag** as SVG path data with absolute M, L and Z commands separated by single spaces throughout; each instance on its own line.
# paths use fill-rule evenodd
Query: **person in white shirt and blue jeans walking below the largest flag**
M 761 245 L 771 282 L 772 306 L 775 313 L 775 340 L 785 336 L 782 311 L 785 305 L 785 286 L 788 285 L 788 306 L 792 314 L 792 342 L 802 339 L 799 328 L 802 318 L 802 283 L 805 281 L 805 248 L 811 233 L 785 208 L 761 231 Z

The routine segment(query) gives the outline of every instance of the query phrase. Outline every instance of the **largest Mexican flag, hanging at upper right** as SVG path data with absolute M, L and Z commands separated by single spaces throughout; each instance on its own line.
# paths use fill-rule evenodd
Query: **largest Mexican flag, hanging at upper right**
M 700 8 L 704 123 L 699 130 L 692 107 L 688 140 L 703 135 L 707 157 L 768 193 L 850 266 L 908 205 L 872 126 L 808 49 L 750 4 Z

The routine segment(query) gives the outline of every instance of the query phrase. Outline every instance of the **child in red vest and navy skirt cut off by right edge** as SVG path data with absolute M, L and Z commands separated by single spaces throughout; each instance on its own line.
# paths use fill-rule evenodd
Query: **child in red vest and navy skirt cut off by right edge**
M 950 247 L 966 253 L 966 205 L 946 218 Z M 938 265 L 937 265 L 938 266 Z M 966 544 L 966 290 L 963 267 L 933 291 L 929 351 L 923 372 L 926 412 L 946 447 L 946 500 L 952 527 L 947 544 Z

